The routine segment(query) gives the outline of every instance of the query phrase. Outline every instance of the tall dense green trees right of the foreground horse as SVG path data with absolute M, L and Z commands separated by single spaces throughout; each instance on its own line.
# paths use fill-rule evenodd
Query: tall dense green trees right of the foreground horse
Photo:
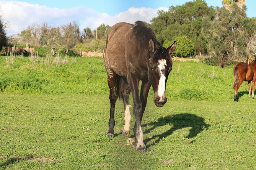
M 168 11 L 158 11 L 151 27 L 162 43 L 186 35 L 197 54 L 243 60 L 256 54 L 253 43 L 249 45 L 255 38 L 256 18 L 246 16 L 244 2 L 223 0 L 221 8 L 204 0 L 170 6 Z

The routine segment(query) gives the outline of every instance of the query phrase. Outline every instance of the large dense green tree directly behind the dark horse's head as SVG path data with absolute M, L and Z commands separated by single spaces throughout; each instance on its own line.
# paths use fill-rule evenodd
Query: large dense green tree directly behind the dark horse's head
M 161 43 L 186 35 L 192 40 L 197 53 L 206 53 L 202 21 L 211 22 L 213 17 L 213 6 L 207 6 L 204 0 L 195 0 L 181 6 L 170 6 L 167 12 L 158 11 L 158 16 L 151 21 L 151 27 Z

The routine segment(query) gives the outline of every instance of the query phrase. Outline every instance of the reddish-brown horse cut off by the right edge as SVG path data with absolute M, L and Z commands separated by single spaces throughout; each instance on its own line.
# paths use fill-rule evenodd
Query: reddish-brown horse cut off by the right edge
M 238 101 L 238 89 L 243 81 L 248 82 L 249 85 L 249 98 L 251 98 L 251 81 L 253 82 L 253 93 L 252 98 L 254 99 L 254 88 L 256 80 L 256 55 L 254 55 L 254 61 L 247 64 L 240 62 L 233 68 L 234 73 L 234 84 L 233 89 L 235 90 L 234 101 Z

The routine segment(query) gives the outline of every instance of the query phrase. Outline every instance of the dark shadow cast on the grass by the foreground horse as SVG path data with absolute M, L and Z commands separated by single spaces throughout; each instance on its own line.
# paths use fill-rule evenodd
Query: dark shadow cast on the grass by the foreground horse
M 144 142 L 147 144 L 150 140 L 154 140 L 152 144 L 148 144 L 148 146 L 155 145 L 158 143 L 161 139 L 166 138 L 167 136 L 170 136 L 173 134 L 175 130 L 182 129 L 182 128 L 187 128 L 191 127 L 189 130 L 188 136 L 186 138 L 194 138 L 202 132 L 203 130 L 207 129 L 209 125 L 204 122 L 204 118 L 199 117 L 194 114 L 189 114 L 189 113 L 183 113 L 183 114 L 176 114 L 176 115 L 168 115 L 166 117 L 160 117 L 158 118 L 157 122 L 151 122 L 142 125 L 143 127 L 147 126 L 153 126 L 147 130 L 145 130 L 144 134 L 150 133 L 155 128 L 168 125 L 168 124 L 173 124 L 173 127 L 167 130 L 164 133 L 161 133 L 160 135 L 155 135 L 150 138 L 147 138 L 144 140 Z M 155 140 L 156 139 L 156 140 Z M 192 140 L 190 143 L 193 143 L 195 140 Z M 148 147 L 147 146 L 147 147 Z

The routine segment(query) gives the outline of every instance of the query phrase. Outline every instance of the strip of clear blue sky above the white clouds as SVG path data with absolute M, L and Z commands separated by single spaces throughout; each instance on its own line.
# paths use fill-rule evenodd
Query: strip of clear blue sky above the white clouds
M 37 3 L 39 5 L 57 7 L 57 8 L 72 8 L 75 6 L 86 6 L 93 8 L 99 13 L 108 13 L 109 15 L 118 14 L 122 11 L 128 10 L 130 7 L 150 7 L 159 8 L 171 5 L 183 5 L 189 0 L 21 0 L 28 3 Z M 222 0 L 205 0 L 208 6 L 222 6 Z M 246 0 L 247 15 L 249 17 L 256 16 L 256 2 L 255 0 Z

